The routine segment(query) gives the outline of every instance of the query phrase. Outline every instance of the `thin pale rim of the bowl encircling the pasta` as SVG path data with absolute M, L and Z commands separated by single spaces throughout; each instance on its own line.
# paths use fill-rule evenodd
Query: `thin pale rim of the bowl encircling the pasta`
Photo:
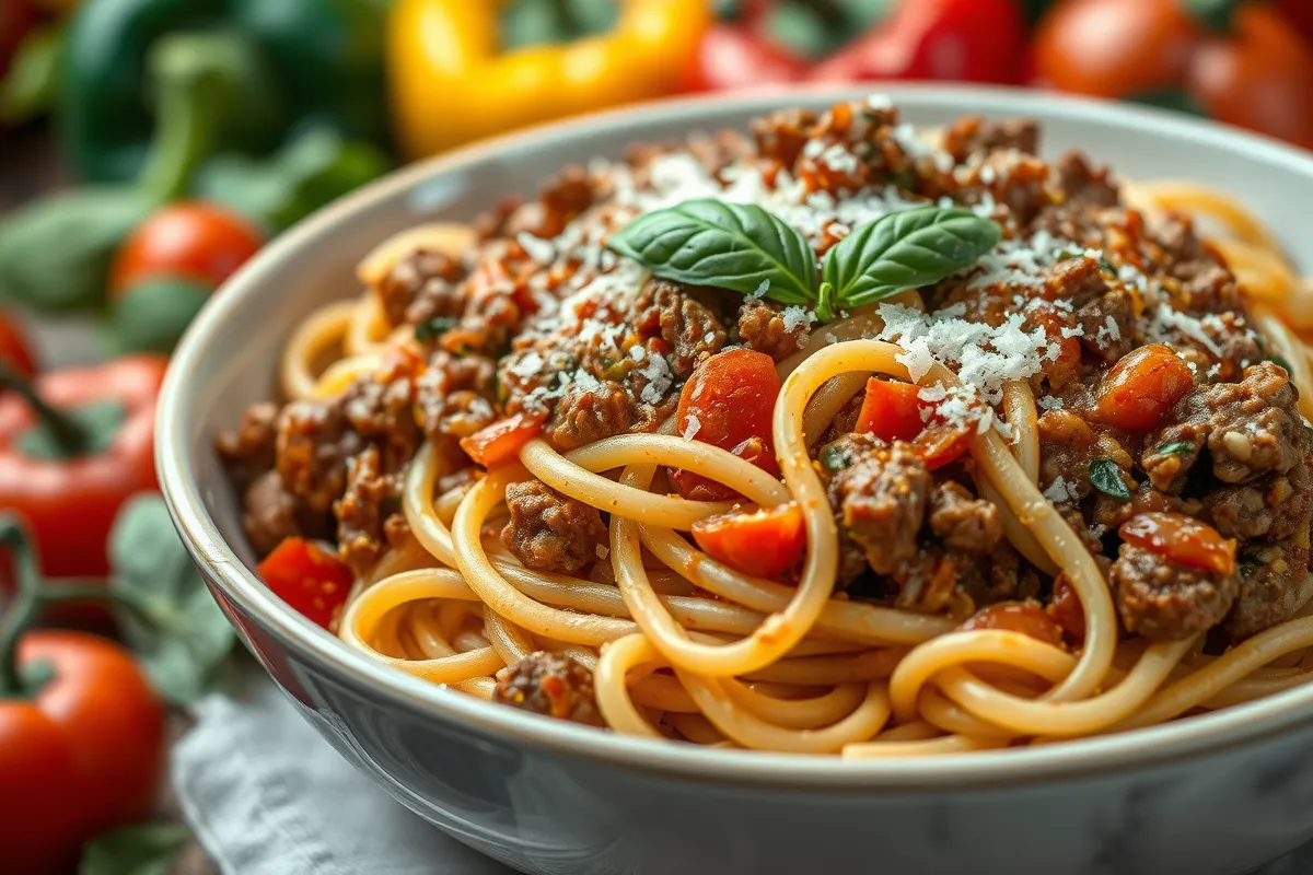
M 391 703 L 442 718 L 513 745 L 570 754 L 596 763 L 649 771 L 667 778 L 767 784 L 780 788 L 827 791 L 869 790 L 977 790 L 1054 779 L 1107 775 L 1134 767 L 1161 766 L 1183 758 L 1281 735 L 1313 724 L 1313 685 L 1296 687 L 1217 712 L 1145 729 L 1077 739 L 1054 745 L 928 757 L 843 760 L 744 750 L 710 750 L 647 739 L 597 732 L 562 720 L 545 719 L 482 702 L 442 689 L 369 659 L 310 621 L 289 610 L 225 543 L 201 499 L 188 434 L 197 411 L 188 387 L 196 380 L 198 358 L 210 338 L 225 331 L 227 316 L 244 298 L 257 294 L 261 279 L 285 256 L 314 245 L 320 231 L 381 201 L 414 190 L 423 182 L 478 164 L 509 150 L 590 139 L 642 121 L 685 119 L 717 125 L 720 112 L 765 112 L 790 101 L 843 100 L 872 92 L 916 109 L 976 112 L 982 114 L 1037 114 L 1048 119 L 1107 122 L 1129 131 L 1166 134 L 1182 144 L 1220 139 L 1228 148 L 1268 163 L 1287 173 L 1313 180 L 1313 153 L 1258 134 L 1165 110 L 1111 101 L 1071 97 L 1019 88 L 935 84 L 810 85 L 763 88 L 733 96 L 709 94 L 653 101 L 566 121 L 551 122 L 403 167 L 339 199 L 289 230 L 247 262 L 202 308 L 181 340 L 160 394 L 155 428 L 160 491 L 173 523 L 193 559 L 207 568 L 211 585 L 235 602 L 299 656 L 330 674 L 345 674 Z

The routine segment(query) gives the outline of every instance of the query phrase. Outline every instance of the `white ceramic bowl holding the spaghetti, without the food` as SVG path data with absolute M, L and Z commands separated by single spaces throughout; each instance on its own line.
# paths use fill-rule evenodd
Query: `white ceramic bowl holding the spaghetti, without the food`
M 1159 112 L 1041 93 L 889 88 L 905 118 L 1031 115 L 1046 153 L 1192 178 L 1313 252 L 1313 156 Z M 243 640 L 301 714 L 439 828 L 528 872 L 1239 872 L 1313 837 L 1313 686 L 1169 725 L 1036 749 L 844 762 L 658 744 L 446 691 L 349 651 L 251 572 L 217 429 L 267 397 L 291 327 L 357 293 L 353 266 L 424 219 L 470 219 L 558 168 L 743 126 L 793 91 L 653 104 L 407 168 L 280 237 L 204 310 L 159 411 L 164 496 Z M 1308 266 L 1308 265 L 1305 265 Z

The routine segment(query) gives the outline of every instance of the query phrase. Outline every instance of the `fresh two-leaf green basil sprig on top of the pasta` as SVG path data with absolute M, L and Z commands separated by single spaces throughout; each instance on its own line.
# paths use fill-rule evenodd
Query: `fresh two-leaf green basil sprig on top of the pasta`
M 835 310 L 931 286 L 969 268 L 1001 236 L 995 222 L 970 210 L 926 206 L 859 226 L 818 265 L 806 237 L 779 216 L 705 199 L 641 215 L 608 245 L 663 279 L 813 304 L 815 317 L 830 321 Z

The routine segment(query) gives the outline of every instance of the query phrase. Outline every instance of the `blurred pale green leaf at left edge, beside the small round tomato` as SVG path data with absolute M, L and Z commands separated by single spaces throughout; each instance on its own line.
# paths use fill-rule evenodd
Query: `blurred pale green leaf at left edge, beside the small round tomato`
M 0 299 L 41 311 L 98 306 L 110 260 L 154 209 L 125 188 L 55 194 L 0 224 Z

